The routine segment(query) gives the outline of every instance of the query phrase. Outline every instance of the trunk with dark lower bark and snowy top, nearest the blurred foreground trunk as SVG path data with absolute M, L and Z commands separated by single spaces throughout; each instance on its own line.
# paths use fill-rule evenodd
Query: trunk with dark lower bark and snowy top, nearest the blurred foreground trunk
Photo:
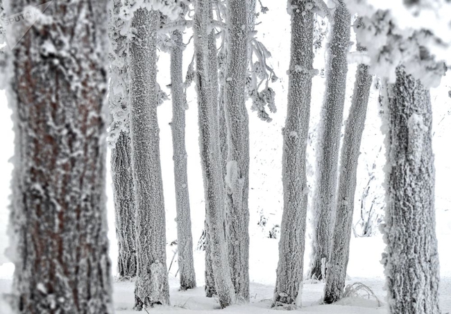
M 110 8 L 110 125 L 111 174 L 118 241 L 119 278 L 136 275 L 136 232 L 133 175 L 131 167 L 127 36 L 122 35 L 126 21 L 119 16 L 121 0 Z

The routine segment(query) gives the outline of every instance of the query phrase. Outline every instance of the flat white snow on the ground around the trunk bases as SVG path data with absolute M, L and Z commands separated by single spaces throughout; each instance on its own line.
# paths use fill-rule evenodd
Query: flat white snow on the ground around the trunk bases
M 441 240 L 445 240 L 445 236 Z M 439 239 L 440 240 L 440 239 Z M 275 267 L 277 265 L 277 240 L 255 239 L 251 240 L 250 251 L 250 304 L 230 306 L 225 313 L 273 313 L 271 299 L 275 283 Z M 264 248 L 264 249 L 263 249 Z M 338 304 L 321 305 L 319 301 L 323 294 L 323 283 L 305 281 L 303 287 L 303 308 L 301 313 L 330 313 L 330 314 L 373 314 L 387 313 L 385 307 L 384 276 L 380 265 L 380 252 L 384 249 L 381 237 L 353 238 L 351 242 L 351 256 L 348 267 L 350 280 L 347 284 L 361 282 L 371 288 L 377 298 L 382 302 L 379 306 L 375 297 L 361 291 L 361 297 L 342 299 Z M 171 262 L 173 249 L 168 247 L 168 265 Z M 451 312 L 451 253 L 441 249 L 441 263 L 444 274 L 441 281 L 441 308 L 442 313 Z M 202 251 L 194 254 L 198 288 L 181 292 L 178 290 L 178 278 L 175 277 L 177 266 L 173 264 L 169 272 L 171 286 L 171 306 L 157 306 L 148 309 L 149 313 L 217 313 L 219 303 L 214 298 L 207 298 L 203 291 L 203 261 Z M 11 286 L 13 266 L 10 263 L 0 266 L 0 293 L 8 292 Z M 118 314 L 132 314 L 134 283 L 130 281 L 114 281 L 113 300 L 114 309 Z M 0 304 L 1 310 L 1 304 Z M 3 314 L 3 312 L 0 311 Z M 145 313 L 145 312 L 144 312 Z

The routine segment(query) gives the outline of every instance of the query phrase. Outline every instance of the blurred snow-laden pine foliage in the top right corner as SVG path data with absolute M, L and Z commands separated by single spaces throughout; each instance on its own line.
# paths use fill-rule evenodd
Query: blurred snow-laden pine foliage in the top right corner
M 357 39 L 368 47 L 371 73 L 393 83 L 395 70 L 406 72 L 426 87 L 436 87 L 445 73 L 443 63 L 451 63 L 451 3 L 437 1 L 356 1 L 346 0 L 352 13 L 362 17 Z M 416 4 L 414 4 L 416 3 Z

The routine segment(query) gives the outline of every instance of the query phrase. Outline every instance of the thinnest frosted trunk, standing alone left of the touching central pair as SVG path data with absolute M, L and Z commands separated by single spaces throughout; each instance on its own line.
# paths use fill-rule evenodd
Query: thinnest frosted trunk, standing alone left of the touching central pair
M 177 247 L 180 288 L 196 287 L 193 260 L 193 236 L 189 213 L 187 150 L 185 147 L 185 110 L 187 99 L 183 86 L 183 35 L 173 31 L 171 49 L 172 145 L 174 182 L 176 183 Z

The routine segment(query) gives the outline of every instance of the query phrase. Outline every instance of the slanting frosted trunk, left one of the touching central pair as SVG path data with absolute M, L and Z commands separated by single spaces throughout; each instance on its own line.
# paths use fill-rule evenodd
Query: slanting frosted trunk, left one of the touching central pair
M 219 303 L 224 308 L 235 302 L 224 230 L 224 189 L 221 176 L 217 100 L 212 97 L 209 71 L 208 30 L 211 4 L 208 0 L 194 3 L 194 49 L 196 53 L 196 88 L 198 93 L 199 144 L 207 206 L 206 222 L 210 241 L 212 270 Z

